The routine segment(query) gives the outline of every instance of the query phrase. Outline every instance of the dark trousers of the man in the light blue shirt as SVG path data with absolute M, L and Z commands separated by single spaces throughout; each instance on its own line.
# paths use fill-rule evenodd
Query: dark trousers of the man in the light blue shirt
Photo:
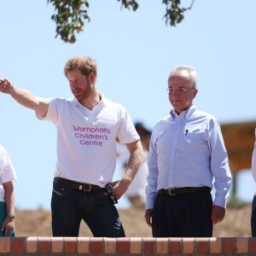
M 190 194 L 157 194 L 154 201 L 154 237 L 212 237 L 212 195 L 208 191 Z

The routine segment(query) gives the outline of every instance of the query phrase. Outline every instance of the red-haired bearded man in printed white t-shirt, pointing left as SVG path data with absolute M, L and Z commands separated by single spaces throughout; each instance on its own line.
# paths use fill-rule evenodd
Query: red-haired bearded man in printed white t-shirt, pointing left
M 113 204 L 124 195 L 143 161 L 140 137 L 125 108 L 97 90 L 96 61 L 75 56 L 67 61 L 64 73 L 74 96 L 71 99 L 41 98 L 0 79 L 0 91 L 57 129 L 53 236 L 79 236 L 82 219 L 93 236 L 125 236 Z M 124 176 L 113 183 L 117 137 L 130 158 Z

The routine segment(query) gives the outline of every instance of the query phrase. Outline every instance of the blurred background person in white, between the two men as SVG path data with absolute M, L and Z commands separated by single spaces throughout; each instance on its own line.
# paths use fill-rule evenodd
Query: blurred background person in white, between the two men
M 126 190 L 125 195 L 131 202 L 133 207 L 144 208 L 145 207 L 145 189 L 147 185 L 148 176 L 148 148 L 147 144 L 151 135 L 149 131 L 141 122 L 135 123 L 135 128 L 138 135 L 141 137 L 141 142 L 143 145 L 143 163 L 139 167 L 136 176 L 131 182 L 131 185 Z M 125 147 L 119 147 L 118 152 L 119 160 L 121 161 L 121 166 L 125 172 L 127 162 L 129 160 L 129 152 Z

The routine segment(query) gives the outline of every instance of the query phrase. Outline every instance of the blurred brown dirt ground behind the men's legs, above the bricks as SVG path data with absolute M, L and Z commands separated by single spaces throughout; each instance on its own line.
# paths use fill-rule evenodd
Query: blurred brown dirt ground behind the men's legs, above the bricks
M 119 215 L 128 237 L 150 237 L 151 230 L 144 221 L 144 210 L 140 208 L 119 209 Z M 249 237 L 251 205 L 228 207 L 224 221 L 214 226 L 215 237 Z M 52 236 L 51 215 L 44 209 L 36 211 L 15 211 L 17 236 Z M 82 223 L 79 236 L 92 236 Z

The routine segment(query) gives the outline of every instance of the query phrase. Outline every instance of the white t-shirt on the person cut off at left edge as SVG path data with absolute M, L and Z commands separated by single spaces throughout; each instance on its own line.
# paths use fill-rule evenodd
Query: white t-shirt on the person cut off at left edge
M 0 201 L 4 201 L 3 183 L 17 180 L 15 168 L 9 158 L 9 154 L 0 145 Z

